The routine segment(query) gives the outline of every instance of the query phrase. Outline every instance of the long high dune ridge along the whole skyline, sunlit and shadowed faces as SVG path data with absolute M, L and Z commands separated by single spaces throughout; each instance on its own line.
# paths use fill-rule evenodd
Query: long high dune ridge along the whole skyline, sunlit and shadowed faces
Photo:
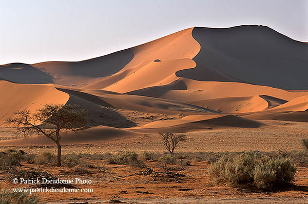
M 0 74 L 17 83 L 53 82 L 120 93 L 166 85 L 179 77 L 306 89 L 307 55 L 307 44 L 266 26 L 195 27 L 80 62 L 6 65 L 2 67 L 23 69 L 1 68 Z

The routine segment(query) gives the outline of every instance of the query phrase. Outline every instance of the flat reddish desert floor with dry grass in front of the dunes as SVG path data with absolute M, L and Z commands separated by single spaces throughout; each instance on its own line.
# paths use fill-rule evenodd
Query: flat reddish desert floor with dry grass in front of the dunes
M 260 128 L 224 128 L 203 132 L 186 133 L 188 140 L 179 145 L 177 152 L 240 152 L 259 150 L 263 152 L 302 151 L 301 139 L 306 137 L 307 123 L 265 120 L 271 126 Z M 5 135 L 13 135 L 10 129 Z M 9 136 L 7 136 L 9 137 Z M 8 138 L 6 138 L 8 139 Z M 54 146 L 5 146 L 1 149 L 16 148 L 26 153 L 40 154 L 43 151 L 56 152 Z M 158 134 L 148 133 L 125 137 L 107 138 L 93 144 L 63 145 L 62 153 L 104 154 L 119 151 L 147 151 L 164 153 L 164 146 Z M 104 159 L 85 159 L 93 165 L 106 164 Z M 148 168 L 157 177 L 144 175 L 146 169 L 127 165 L 106 165 L 106 172 L 88 169 L 88 173 L 76 173 L 75 168 L 51 167 L 48 165 L 23 164 L 21 169 L 49 171 L 60 179 L 80 177 L 91 179 L 90 185 L 74 185 L 76 188 L 92 188 L 94 193 L 46 193 L 40 194 L 42 203 L 308 203 L 308 166 L 298 166 L 294 185 L 271 193 L 245 187 L 213 186 L 208 178 L 209 160 L 195 162 L 190 166 L 169 165 L 170 172 L 183 177 L 164 178 L 164 169 L 157 160 L 146 160 Z M 161 177 L 160 177 L 161 176 Z M 2 187 L 12 182 L 1 174 Z M 29 188 L 21 186 L 20 188 Z M 16 188 L 16 187 L 15 187 Z

